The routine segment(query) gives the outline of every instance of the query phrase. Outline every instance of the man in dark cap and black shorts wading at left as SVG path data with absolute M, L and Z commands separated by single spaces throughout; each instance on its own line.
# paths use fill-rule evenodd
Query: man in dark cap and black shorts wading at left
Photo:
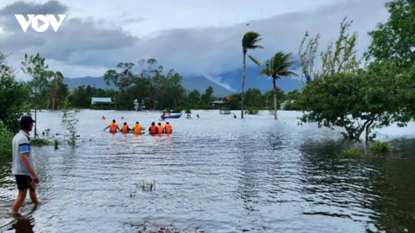
M 32 154 L 30 153 L 29 132 L 32 131 L 33 119 L 30 116 L 23 116 L 20 119 L 21 129 L 13 138 L 12 152 L 13 165 L 12 174 L 16 177 L 17 189 L 19 194 L 13 203 L 12 211 L 17 212 L 26 198 L 27 189 L 32 203 L 37 206 L 39 202 L 36 197 L 36 184 L 39 183 L 36 173 L 33 171 Z

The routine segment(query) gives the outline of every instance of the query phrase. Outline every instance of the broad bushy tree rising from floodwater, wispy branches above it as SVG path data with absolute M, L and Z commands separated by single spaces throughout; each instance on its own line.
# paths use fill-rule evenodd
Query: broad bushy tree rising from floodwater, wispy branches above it
M 404 126 L 410 120 L 402 108 L 408 78 L 396 75 L 396 67 L 388 63 L 361 68 L 354 49 L 357 34 L 347 33 L 351 24 L 345 18 L 337 41 L 321 53 L 322 67 L 303 90 L 300 119 L 319 127 L 343 127 L 350 139 L 359 139 L 366 130 L 367 141 L 376 136 L 370 136 L 376 127 Z

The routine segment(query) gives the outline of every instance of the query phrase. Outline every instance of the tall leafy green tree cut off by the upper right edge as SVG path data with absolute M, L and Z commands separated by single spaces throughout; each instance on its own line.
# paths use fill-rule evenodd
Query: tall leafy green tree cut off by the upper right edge
M 389 63 L 387 66 L 393 67 L 396 75 L 408 78 L 408 85 L 404 87 L 408 96 L 401 106 L 406 114 L 415 119 L 415 2 L 393 0 L 386 3 L 386 8 L 390 13 L 388 21 L 379 23 L 375 30 L 369 32 L 372 44 L 366 59 L 373 61 L 370 66 L 385 66 Z

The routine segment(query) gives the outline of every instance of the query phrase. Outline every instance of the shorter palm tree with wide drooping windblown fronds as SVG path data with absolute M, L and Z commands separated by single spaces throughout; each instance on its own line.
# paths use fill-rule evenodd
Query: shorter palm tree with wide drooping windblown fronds
M 265 69 L 259 72 L 259 75 L 272 77 L 274 92 L 274 119 L 277 119 L 277 79 L 287 76 L 298 76 L 296 73 L 288 70 L 294 64 L 289 61 L 292 58 L 291 53 L 278 52 L 271 59 L 266 60 Z

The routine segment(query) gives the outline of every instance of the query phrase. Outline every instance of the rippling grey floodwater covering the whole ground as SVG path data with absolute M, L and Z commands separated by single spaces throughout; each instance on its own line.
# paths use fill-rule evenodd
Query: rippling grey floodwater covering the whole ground
M 395 152 L 347 159 L 336 155 L 351 146 L 341 129 L 278 114 L 193 111 L 170 120 L 171 136 L 136 136 L 103 128 L 112 119 L 148 127 L 160 113 L 81 111 L 78 148 L 34 148 L 42 205 L 32 211 L 27 197 L 23 218 L 8 212 L 17 187 L 11 158 L 1 158 L 0 232 L 130 233 L 124 223 L 143 220 L 224 233 L 415 232 L 413 122 L 378 131 Z M 59 112 L 38 116 L 39 131 L 61 133 Z

